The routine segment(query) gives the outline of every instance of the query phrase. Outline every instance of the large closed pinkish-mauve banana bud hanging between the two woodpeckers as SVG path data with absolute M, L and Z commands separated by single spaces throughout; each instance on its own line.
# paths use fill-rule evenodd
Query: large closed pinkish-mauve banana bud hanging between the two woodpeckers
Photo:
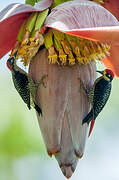
M 90 65 L 62 67 L 48 64 L 47 50 L 40 51 L 30 64 L 30 75 L 38 82 L 48 74 L 46 88 L 36 93 L 36 104 L 42 108 L 38 117 L 41 132 L 49 155 L 54 154 L 66 177 L 76 168 L 84 153 L 88 125 L 82 119 L 90 110 L 88 97 L 81 90 L 80 79 L 87 88 L 93 86 L 96 67 Z

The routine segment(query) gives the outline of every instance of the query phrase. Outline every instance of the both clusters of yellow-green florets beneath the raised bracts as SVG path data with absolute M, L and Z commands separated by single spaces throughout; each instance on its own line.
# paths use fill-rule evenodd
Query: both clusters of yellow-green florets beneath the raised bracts
M 74 37 L 54 29 L 43 32 L 42 27 L 48 11 L 49 9 L 33 12 L 24 21 L 10 56 L 18 50 L 16 59 L 20 58 L 24 66 L 27 66 L 43 44 L 49 53 L 49 64 L 63 66 L 72 66 L 76 63 L 89 64 L 91 61 L 102 60 L 109 55 L 110 46 L 106 43 Z

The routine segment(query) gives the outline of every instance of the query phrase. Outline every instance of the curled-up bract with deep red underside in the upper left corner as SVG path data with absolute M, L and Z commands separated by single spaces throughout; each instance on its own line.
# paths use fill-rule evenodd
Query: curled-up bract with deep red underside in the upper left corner
M 53 0 L 43 0 L 35 7 L 14 3 L 0 12 L 0 58 L 13 48 L 19 28 L 30 12 L 43 11 L 52 3 Z

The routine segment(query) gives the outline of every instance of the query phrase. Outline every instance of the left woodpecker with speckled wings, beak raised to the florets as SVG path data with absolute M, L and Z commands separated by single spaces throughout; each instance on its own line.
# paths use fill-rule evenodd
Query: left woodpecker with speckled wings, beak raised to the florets
M 35 92 L 40 84 L 44 85 L 44 78 L 47 75 L 44 75 L 38 83 L 34 83 L 30 76 L 16 64 L 17 51 L 12 57 L 7 60 L 7 67 L 12 73 L 12 79 L 15 86 L 15 89 L 21 96 L 24 103 L 27 104 L 28 109 L 31 109 L 31 106 L 35 108 L 39 116 L 42 115 L 41 108 L 35 103 Z

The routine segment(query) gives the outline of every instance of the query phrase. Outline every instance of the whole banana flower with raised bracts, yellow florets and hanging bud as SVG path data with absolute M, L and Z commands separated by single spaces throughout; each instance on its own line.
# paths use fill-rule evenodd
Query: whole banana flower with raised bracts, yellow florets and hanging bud
M 35 94 L 43 112 L 37 117 L 48 154 L 55 155 L 69 178 L 89 131 L 82 120 L 91 104 L 80 79 L 90 89 L 98 61 L 119 76 L 119 22 L 100 0 L 56 2 L 43 0 L 34 7 L 15 3 L 2 10 L 0 58 L 17 49 L 34 82 L 48 75 L 46 88 L 40 86 Z

